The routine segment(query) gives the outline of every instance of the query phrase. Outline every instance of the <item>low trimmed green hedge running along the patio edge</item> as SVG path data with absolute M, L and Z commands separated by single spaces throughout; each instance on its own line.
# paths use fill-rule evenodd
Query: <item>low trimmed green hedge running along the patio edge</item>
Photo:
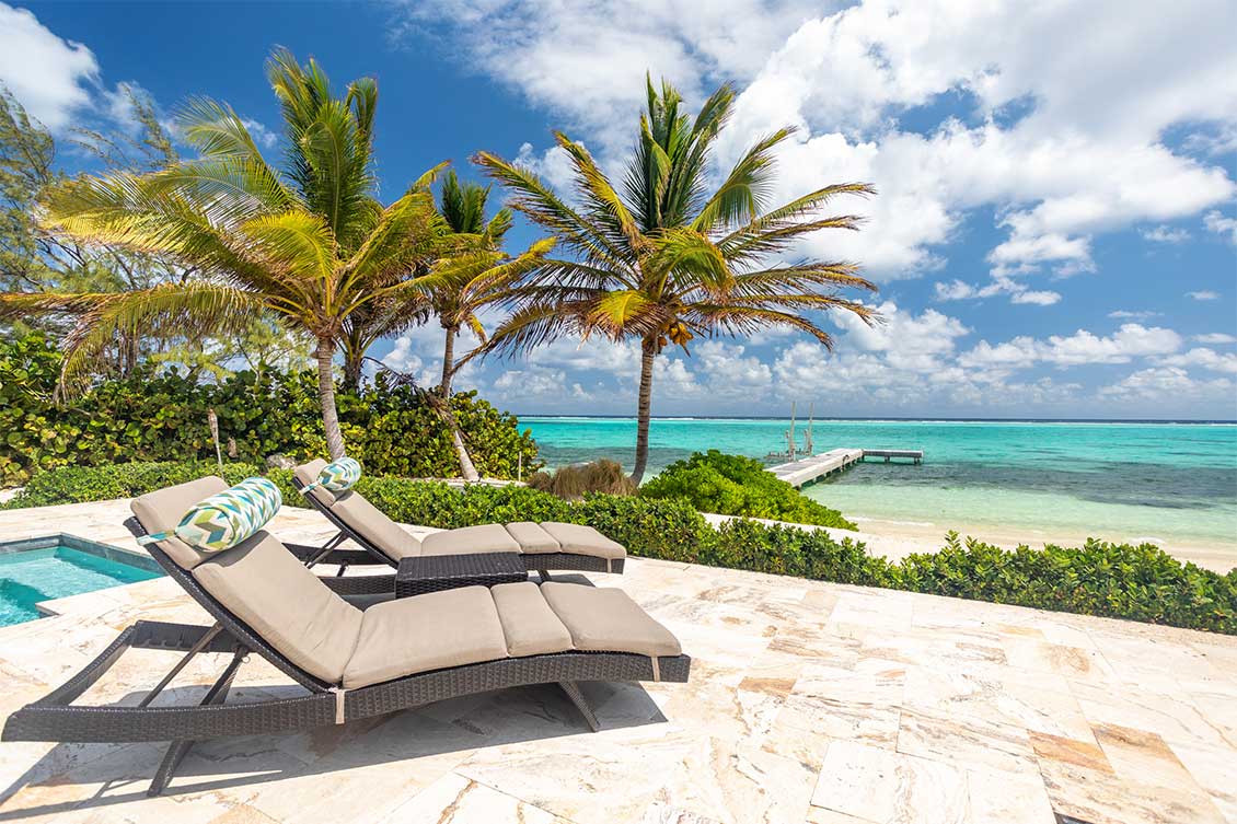
M 225 466 L 229 480 L 257 468 Z M 7 507 L 125 497 L 218 471 L 212 464 L 122 464 L 36 475 Z M 299 502 L 291 473 L 271 470 L 285 501 Z M 564 501 L 527 486 L 464 489 L 366 475 L 357 489 L 396 521 L 454 528 L 502 521 L 570 521 L 596 527 L 633 556 L 884 586 L 1063 612 L 1132 619 L 1237 635 L 1237 570 L 1220 575 L 1150 544 L 1087 541 L 1080 548 L 1002 549 L 946 536 L 939 552 L 899 563 L 824 531 L 738 518 L 710 526 L 683 499 L 586 495 Z

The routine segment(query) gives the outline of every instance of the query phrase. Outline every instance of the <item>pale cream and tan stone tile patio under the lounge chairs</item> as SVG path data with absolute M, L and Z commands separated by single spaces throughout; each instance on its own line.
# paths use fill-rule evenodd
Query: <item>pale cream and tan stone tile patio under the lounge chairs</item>
M 0 541 L 135 548 L 126 516 L 125 501 L 0 511 Z M 271 530 L 330 532 L 293 507 Z M 591 578 L 694 658 L 685 685 L 586 684 L 599 734 L 555 688 L 512 689 L 200 744 L 160 798 L 145 791 L 162 746 L 0 744 L 0 820 L 1237 822 L 1237 638 L 658 560 Z M 167 579 L 47 606 L 0 629 L 0 715 L 137 617 L 209 622 Z M 212 658 L 168 700 L 195 699 Z M 129 652 L 83 700 L 136 702 L 169 666 Z M 239 699 L 296 692 L 256 656 L 238 684 Z

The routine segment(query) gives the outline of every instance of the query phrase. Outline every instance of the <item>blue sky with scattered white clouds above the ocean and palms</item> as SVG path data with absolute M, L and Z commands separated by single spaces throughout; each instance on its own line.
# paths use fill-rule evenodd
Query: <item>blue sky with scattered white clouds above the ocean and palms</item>
M 653 414 L 1237 418 L 1237 4 L 1175 0 L 481 0 L 109 4 L 0 0 L 0 82 L 57 136 L 231 104 L 278 152 L 275 46 L 380 87 L 382 197 L 486 150 L 565 191 L 550 131 L 621 174 L 644 74 L 698 106 L 738 93 L 713 173 L 797 127 L 773 202 L 861 181 L 858 233 L 788 257 L 858 262 L 882 323 L 696 340 L 658 359 Z M 72 148 L 61 162 L 77 171 Z M 499 194 L 501 197 L 501 194 Z M 520 224 L 511 245 L 537 233 Z M 490 323 L 500 319 L 487 317 Z M 466 344 L 465 344 L 466 345 Z M 371 353 L 432 382 L 442 330 Z M 638 348 L 559 340 L 470 364 L 517 413 L 631 414 Z

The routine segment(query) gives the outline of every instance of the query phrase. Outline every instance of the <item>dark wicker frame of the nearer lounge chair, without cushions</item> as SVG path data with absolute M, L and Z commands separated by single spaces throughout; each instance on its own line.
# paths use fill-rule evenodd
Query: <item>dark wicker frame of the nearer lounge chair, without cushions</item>
M 125 525 L 137 536 L 146 534 L 136 518 Z M 654 659 L 625 652 L 560 652 L 503 658 L 435 669 L 397 678 L 360 689 L 344 690 L 304 672 L 267 645 L 247 624 L 233 615 L 198 582 L 158 548 L 147 547 L 151 557 L 214 619 L 214 626 L 137 621 L 125 629 L 98 658 L 62 687 L 11 714 L 4 741 L 131 742 L 171 741 L 147 793 L 167 788 L 181 758 L 194 741 L 235 735 L 288 732 L 329 724 L 343 724 L 383 715 L 433 702 L 474 693 L 527 684 L 559 684 L 580 710 L 589 726 L 597 723 L 576 682 L 651 680 L 684 683 L 691 668 L 688 656 Z M 328 585 L 390 575 L 325 578 Z M 390 591 L 390 590 L 386 590 Z M 73 702 L 99 680 L 126 650 L 166 650 L 184 653 L 177 664 L 136 705 L 75 706 Z M 198 705 L 150 706 L 150 702 L 200 652 L 231 656 L 219 679 Z M 236 672 L 250 652 L 266 658 L 308 690 L 297 698 L 277 698 L 244 704 L 226 704 Z

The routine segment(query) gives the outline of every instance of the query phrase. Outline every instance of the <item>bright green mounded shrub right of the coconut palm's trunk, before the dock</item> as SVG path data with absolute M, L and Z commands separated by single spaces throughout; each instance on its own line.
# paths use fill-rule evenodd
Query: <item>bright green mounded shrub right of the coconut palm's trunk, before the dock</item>
M 726 455 L 716 449 L 674 461 L 641 486 L 640 494 L 643 497 L 685 497 L 700 512 L 858 528 L 837 510 L 774 478 L 755 458 Z

